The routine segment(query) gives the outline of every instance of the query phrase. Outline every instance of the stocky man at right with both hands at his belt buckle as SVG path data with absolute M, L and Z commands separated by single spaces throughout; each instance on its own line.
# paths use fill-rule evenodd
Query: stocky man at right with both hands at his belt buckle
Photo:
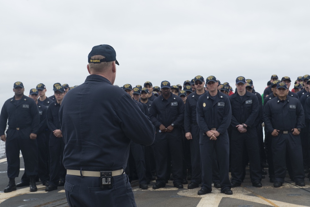
M 277 98 L 264 107 L 264 123 L 272 138 L 272 156 L 275 178 L 273 187 L 280 187 L 286 175 L 286 153 L 289 154 L 294 181 L 305 186 L 303 155 L 299 133 L 304 127 L 304 113 L 300 101 L 288 96 L 285 83 L 278 83 Z

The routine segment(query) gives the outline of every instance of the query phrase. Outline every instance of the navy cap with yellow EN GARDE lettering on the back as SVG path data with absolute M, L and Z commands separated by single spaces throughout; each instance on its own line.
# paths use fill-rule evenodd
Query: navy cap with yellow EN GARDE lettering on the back
M 105 58 L 100 60 L 91 60 L 92 56 L 102 55 Z M 118 64 L 116 60 L 116 52 L 114 48 L 110 45 L 97 45 L 91 49 L 91 52 L 88 54 L 88 62 L 89 63 L 101 63 L 101 62 L 111 62 L 115 61 L 115 64 Z

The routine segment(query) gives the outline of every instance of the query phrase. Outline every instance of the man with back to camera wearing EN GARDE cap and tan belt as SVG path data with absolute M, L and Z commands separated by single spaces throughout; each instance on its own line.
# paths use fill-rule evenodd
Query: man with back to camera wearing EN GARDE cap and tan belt
M 151 145 L 155 128 L 131 96 L 113 86 L 119 65 L 113 47 L 93 47 L 88 62 L 90 75 L 69 90 L 60 107 L 68 203 L 136 206 L 124 174 L 129 143 Z

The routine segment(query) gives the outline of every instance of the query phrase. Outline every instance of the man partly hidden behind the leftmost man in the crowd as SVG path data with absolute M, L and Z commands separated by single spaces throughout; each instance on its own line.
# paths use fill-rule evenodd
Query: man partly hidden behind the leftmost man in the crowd
M 38 144 L 38 177 L 40 178 L 43 185 L 48 185 L 48 181 L 50 179 L 48 169 L 47 169 L 47 162 L 46 162 L 46 146 L 45 146 L 45 129 L 47 128 L 47 108 L 38 103 L 39 93 L 36 88 L 31 88 L 29 92 L 29 97 L 32 98 L 39 108 L 39 115 L 40 115 L 40 125 L 39 131 L 37 135 L 37 144 Z M 29 177 L 27 177 L 26 171 L 24 171 L 23 176 L 21 177 L 21 182 L 16 184 L 16 187 L 23 187 L 29 186 Z

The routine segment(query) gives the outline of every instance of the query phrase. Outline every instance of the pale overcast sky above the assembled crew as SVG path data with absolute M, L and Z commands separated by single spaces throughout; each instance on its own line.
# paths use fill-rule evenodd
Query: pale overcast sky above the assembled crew
M 272 74 L 309 74 L 310 1 L 2 1 L 0 105 L 38 83 L 80 85 L 87 55 L 116 50 L 114 84 L 215 76 L 233 88 L 237 76 L 263 93 Z M 292 86 L 291 86 L 292 88 Z M 290 88 L 290 89 L 291 89 Z

